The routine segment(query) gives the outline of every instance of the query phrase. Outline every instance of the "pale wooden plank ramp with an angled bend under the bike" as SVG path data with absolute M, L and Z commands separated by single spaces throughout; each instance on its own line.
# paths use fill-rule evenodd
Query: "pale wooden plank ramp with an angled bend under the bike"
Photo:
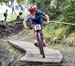
M 26 51 L 25 55 L 20 59 L 22 62 L 61 62 L 62 54 L 60 51 L 44 47 L 46 58 L 42 58 L 38 47 L 35 47 L 32 42 L 24 41 L 8 41 L 12 46 Z

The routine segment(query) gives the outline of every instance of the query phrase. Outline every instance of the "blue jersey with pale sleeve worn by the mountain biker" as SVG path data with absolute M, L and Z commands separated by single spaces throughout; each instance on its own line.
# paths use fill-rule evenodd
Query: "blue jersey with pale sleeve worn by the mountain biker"
M 29 20 L 32 24 L 42 24 L 45 13 L 39 9 L 36 10 L 36 15 L 29 14 L 25 20 Z

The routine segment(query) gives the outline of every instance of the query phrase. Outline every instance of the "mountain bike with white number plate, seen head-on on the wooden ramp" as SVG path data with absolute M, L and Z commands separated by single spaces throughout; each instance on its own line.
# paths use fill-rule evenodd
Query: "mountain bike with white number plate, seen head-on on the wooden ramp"
M 43 35 L 42 35 L 42 26 L 40 24 L 36 24 L 33 27 L 34 31 L 36 32 L 37 41 L 38 41 L 38 48 L 40 50 L 40 54 L 43 58 L 45 58 L 45 53 L 43 49 Z

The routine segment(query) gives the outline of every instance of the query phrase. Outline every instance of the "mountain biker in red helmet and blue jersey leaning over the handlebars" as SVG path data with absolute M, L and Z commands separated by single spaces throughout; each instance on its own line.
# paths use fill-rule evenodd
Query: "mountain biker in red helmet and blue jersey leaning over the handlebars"
M 29 13 L 23 21 L 23 25 L 25 28 L 28 28 L 27 26 L 27 20 L 29 20 L 31 26 L 33 27 L 35 24 L 40 24 L 42 26 L 43 19 L 46 20 L 45 24 L 49 23 L 49 16 L 45 14 L 43 11 L 37 9 L 35 5 L 31 6 L 28 9 Z M 44 46 L 46 46 L 45 39 L 43 38 Z M 34 44 L 35 46 L 38 46 L 38 41 L 36 39 L 36 33 L 34 31 Z

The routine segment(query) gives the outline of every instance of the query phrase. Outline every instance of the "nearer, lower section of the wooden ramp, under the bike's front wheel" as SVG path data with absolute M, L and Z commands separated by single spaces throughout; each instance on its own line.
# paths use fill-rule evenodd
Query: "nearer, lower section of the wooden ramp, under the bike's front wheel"
M 62 55 L 57 50 L 52 50 L 48 48 L 44 48 L 45 52 L 45 58 L 42 58 L 42 55 L 40 53 L 37 53 L 37 51 L 31 51 L 27 52 L 24 57 L 21 58 L 20 61 L 28 61 L 28 62 L 61 62 Z

